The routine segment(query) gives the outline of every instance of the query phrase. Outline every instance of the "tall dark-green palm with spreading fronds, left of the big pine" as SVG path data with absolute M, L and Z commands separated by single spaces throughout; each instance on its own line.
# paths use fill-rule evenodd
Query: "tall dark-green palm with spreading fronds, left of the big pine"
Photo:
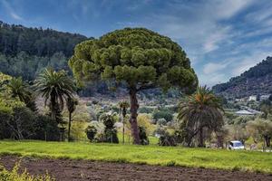
M 63 110 L 64 100 L 73 98 L 75 92 L 73 80 L 67 76 L 65 71 L 45 69 L 34 81 L 34 87 L 44 98 L 44 105 L 47 105 L 49 100 L 51 117 L 58 121 L 57 113 Z

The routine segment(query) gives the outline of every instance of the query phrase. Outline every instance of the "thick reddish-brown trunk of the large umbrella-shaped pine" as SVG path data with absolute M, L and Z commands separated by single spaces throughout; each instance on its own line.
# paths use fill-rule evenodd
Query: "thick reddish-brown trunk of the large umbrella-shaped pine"
M 140 145 L 140 135 L 139 129 L 137 124 L 137 110 L 139 108 L 138 100 L 137 100 L 137 90 L 131 89 L 130 90 L 130 100 L 131 100 L 131 136 L 133 137 L 133 144 Z

